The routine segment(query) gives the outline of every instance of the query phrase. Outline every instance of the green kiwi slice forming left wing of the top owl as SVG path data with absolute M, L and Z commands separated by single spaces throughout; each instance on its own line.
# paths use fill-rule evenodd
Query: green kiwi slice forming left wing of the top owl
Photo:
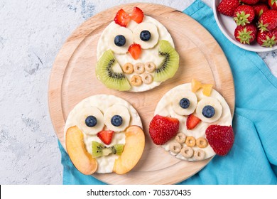
M 96 75 L 98 80 L 111 89 L 119 91 L 130 90 L 131 85 L 125 75 L 112 70 L 116 63 L 112 50 L 105 51 L 97 62 Z

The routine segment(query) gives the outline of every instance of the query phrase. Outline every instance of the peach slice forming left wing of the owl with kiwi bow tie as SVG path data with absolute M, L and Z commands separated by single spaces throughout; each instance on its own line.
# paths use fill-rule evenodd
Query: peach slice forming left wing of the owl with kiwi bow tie
M 97 170 L 97 161 L 87 152 L 84 135 L 78 127 L 67 129 L 65 145 L 72 163 L 81 173 L 91 175 Z

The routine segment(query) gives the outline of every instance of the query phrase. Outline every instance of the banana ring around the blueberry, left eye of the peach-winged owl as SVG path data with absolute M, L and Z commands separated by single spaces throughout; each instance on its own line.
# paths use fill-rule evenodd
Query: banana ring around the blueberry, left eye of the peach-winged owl
M 89 127 L 86 124 L 86 119 L 89 116 L 93 116 L 97 122 L 93 127 Z M 76 117 L 77 127 L 84 133 L 88 135 L 96 135 L 99 131 L 104 128 L 104 116 L 102 112 L 97 107 L 83 107 Z M 92 126 L 92 125 L 90 125 Z

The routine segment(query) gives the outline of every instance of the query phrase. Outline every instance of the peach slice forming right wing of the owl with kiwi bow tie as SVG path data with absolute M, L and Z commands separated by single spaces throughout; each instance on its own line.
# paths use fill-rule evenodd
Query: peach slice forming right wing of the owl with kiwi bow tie
M 141 127 L 131 126 L 125 132 L 124 150 L 114 162 L 113 171 L 117 174 L 124 174 L 131 171 L 139 162 L 143 153 L 145 139 Z

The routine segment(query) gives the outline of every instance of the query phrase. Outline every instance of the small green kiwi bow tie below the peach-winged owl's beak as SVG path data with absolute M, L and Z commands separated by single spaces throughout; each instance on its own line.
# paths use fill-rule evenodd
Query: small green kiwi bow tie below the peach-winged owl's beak
M 123 152 L 123 149 L 124 144 L 115 144 L 114 146 L 107 147 L 97 141 L 92 141 L 92 157 L 94 158 L 109 156 L 109 154 L 120 156 Z

